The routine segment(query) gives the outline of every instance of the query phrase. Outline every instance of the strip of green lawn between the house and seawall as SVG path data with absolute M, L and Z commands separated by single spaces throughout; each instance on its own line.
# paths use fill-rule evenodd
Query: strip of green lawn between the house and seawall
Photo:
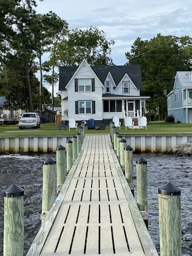
M 79 128 L 79 127 L 78 127 Z M 78 129 L 79 131 L 79 129 Z M 18 125 L 0 125 L 0 136 L 30 136 L 30 135 L 73 135 L 78 133 L 75 129 L 71 129 L 69 131 L 69 127 L 67 126 L 67 130 L 61 129 L 59 131 L 58 125 L 54 123 L 41 123 L 41 127 L 39 129 L 22 129 L 20 130 Z M 127 128 L 125 130 L 125 126 L 122 125 L 121 129 L 116 128 L 121 134 L 133 134 L 133 133 L 192 133 L 192 124 L 187 123 L 165 123 L 164 121 L 160 122 L 149 122 L 147 125 L 147 130 L 145 129 L 134 129 L 131 130 Z M 110 133 L 110 126 L 107 125 L 105 130 L 93 130 L 87 129 L 85 126 L 85 134 L 100 134 L 100 133 Z

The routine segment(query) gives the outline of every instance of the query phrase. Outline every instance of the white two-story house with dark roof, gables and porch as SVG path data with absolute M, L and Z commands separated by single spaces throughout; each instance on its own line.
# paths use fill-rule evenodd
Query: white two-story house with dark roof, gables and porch
M 83 60 L 79 66 L 59 68 L 63 121 L 92 118 L 109 124 L 114 116 L 142 116 L 149 97 L 140 96 L 140 89 L 140 65 L 92 67 Z

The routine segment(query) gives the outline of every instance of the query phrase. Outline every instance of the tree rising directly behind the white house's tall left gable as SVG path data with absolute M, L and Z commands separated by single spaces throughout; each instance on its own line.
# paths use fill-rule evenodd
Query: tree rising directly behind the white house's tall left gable
M 111 45 L 114 41 L 107 41 L 105 33 L 98 28 L 76 28 L 58 43 L 56 56 L 61 65 L 79 65 L 83 59 L 90 65 L 112 65 Z

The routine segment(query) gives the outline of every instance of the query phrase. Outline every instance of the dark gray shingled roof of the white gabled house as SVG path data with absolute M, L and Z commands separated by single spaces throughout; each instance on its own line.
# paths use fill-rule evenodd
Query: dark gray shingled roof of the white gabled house
M 120 83 L 123 76 L 128 74 L 129 78 L 133 81 L 134 85 L 138 89 L 142 89 L 142 76 L 140 65 L 126 65 L 126 66 L 92 66 L 92 70 L 96 76 L 100 79 L 104 85 L 104 81 L 107 78 L 109 72 L 116 84 Z M 59 67 L 59 91 L 65 90 L 67 83 L 72 78 L 74 72 L 78 69 L 78 66 Z

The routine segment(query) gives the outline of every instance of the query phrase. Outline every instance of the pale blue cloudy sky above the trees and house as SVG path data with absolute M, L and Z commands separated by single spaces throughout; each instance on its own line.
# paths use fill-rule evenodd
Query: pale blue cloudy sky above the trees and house
M 127 62 L 134 41 L 162 36 L 192 37 L 191 0 L 43 0 L 37 13 L 50 10 L 69 24 L 69 29 L 97 27 L 115 41 L 111 58 L 115 65 Z

